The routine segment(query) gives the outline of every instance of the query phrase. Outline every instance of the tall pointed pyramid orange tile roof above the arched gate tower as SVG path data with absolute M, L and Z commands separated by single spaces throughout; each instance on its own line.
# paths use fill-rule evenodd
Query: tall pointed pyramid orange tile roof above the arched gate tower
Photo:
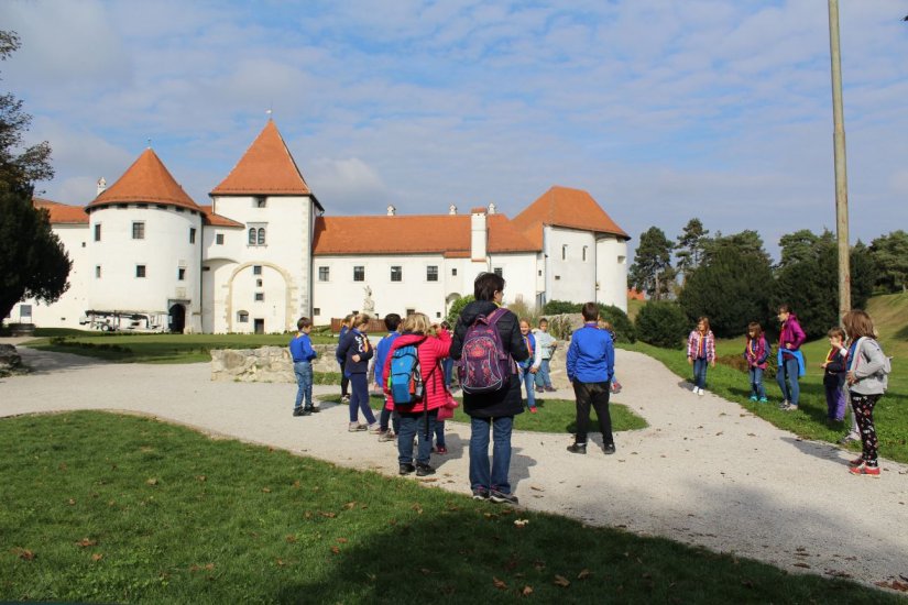
M 273 120 L 262 132 L 212 196 L 311 195 Z

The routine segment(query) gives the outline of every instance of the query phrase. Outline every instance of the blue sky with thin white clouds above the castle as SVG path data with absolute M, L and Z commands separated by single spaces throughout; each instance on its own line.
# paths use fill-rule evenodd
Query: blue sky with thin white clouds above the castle
M 841 0 L 852 241 L 908 229 L 908 0 Z M 590 191 L 634 240 L 834 229 L 827 2 L 6 0 L 3 89 L 85 205 L 152 146 L 198 204 L 266 110 L 330 215 Z

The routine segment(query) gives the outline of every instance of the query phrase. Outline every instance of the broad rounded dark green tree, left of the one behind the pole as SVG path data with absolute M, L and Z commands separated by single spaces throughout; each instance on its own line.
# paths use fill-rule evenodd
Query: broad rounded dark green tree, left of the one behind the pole
M 772 288 L 768 256 L 723 243 L 690 274 L 678 302 L 690 323 L 709 317 L 715 336 L 729 338 L 744 333 L 751 321 L 766 324 Z

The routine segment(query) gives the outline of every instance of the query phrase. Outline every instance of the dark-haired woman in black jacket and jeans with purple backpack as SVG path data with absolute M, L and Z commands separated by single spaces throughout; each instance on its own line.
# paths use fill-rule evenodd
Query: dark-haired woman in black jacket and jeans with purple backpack
M 473 295 L 475 300 L 463 308 L 457 320 L 450 352 L 451 358 L 460 360 L 463 411 L 470 416 L 470 487 L 475 499 L 517 504 L 507 480 L 514 416 L 524 410 L 521 378 L 514 362 L 526 360 L 529 352 L 524 345 L 517 316 L 501 306 L 504 278 L 494 273 L 480 274 L 473 283 Z M 483 344 L 479 336 L 483 328 L 489 332 L 490 324 L 497 338 L 486 337 Z M 482 348 L 492 340 L 494 343 L 485 352 L 491 363 L 485 367 L 489 372 L 484 372 L 475 364 Z M 499 348 L 501 351 L 493 350 Z M 496 363 L 499 361 L 501 363 Z M 491 462 L 490 430 L 494 442 Z

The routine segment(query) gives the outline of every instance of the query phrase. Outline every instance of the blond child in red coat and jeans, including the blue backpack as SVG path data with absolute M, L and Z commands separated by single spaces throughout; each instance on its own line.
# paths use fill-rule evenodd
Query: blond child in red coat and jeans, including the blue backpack
M 413 351 L 409 348 L 415 348 Z M 448 403 L 448 388 L 445 386 L 445 371 L 441 360 L 448 356 L 451 349 L 451 336 L 441 327 L 434 327 L 424 314 L 413 314 L 404 320 L 403 330 L 391 344 L 384 364 L 384 389 L 387 395 L 385 404 L 401 416 L 401 429 L 397 431 L 397 460 L 402 475 L 416 471 L 416 476 L 434 475 L 435 469 L 429 465 L 431 457 L 431 436 L 435 432 L 435 421 L 438 409 Z M 416 363 L 412 355 L 415 353 Z M 409 355 L 411 362 L 404 364 L 404 356 Z M 405 367 L 404 375 L 401 370 Z M 404 403 L 402 397 L 394 400 L 395 391 L 398 392 L 398 381 L 403 380 L 405 395 L 412 403 Z M 390 384 L 389 384 L 390 383 Z M 417 386 L 418 385 L 418 386 Z M 417 392 L 418 391 L 418 392 Z M 419 449 L 416 453 L 416 464 L 413 464 L 413 439 L 419 436 Z

